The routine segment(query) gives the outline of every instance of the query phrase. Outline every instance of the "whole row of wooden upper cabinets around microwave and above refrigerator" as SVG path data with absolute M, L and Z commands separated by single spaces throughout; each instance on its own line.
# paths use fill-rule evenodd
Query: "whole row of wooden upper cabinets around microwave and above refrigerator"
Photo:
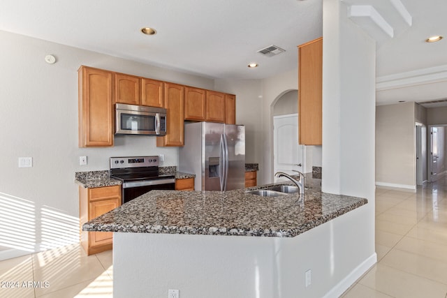
M 164 107 L 166 136 L 159 147 L 184 145 L 184 120 L 235 124 L 233 94 L 81 66 L 79 73 L 79 147 L 112 147 L 114 103 Z

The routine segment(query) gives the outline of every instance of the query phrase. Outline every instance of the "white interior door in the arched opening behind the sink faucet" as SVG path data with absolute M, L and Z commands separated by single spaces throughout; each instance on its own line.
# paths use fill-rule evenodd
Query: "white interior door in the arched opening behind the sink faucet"
M 274 172 L 296 174 L 304 172 L 304 145 L 298 144 L 298 114 L 273 117 Z M 274 178 L 283 181 L 284 178 Z

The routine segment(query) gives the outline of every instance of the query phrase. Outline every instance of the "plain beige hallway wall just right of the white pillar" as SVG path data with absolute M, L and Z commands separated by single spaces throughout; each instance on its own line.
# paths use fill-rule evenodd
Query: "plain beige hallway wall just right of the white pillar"
M 414 103 L 376 107 L 376 184 L 416 189 Z

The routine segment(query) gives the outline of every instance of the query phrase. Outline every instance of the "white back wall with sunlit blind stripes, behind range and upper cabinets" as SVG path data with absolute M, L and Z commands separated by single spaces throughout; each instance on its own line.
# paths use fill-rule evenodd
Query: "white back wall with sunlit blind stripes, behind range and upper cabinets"
M 115 147 L 78 148 L 81 65 L 214 89 L 214 80 L 205 77 L 13 33 L 0 31 L 0 41 L 0 226 L 6 234 L 0 234 L 0 260 L 78 241 L 75 172 L 108 170 L 108 158 L 122 155 L 165 154 L 163 165 L 177 165 L 178 149 L 156 147 L 155 137 L 117 137 Z M 46 54 L 57 63 L 46 64 Z M 31 156 L 33 167 L 19 168 L 20 156 Z M 79 156 L 87 156 L 87 166 L 79 165 Z M 52 241 L 46 231 L 67 238 Z

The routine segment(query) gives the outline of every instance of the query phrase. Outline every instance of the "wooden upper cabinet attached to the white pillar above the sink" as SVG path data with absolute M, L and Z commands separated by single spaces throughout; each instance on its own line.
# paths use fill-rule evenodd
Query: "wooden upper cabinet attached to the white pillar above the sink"
M 323 38 L 298 47 L 298 140 L 322 144 Z

